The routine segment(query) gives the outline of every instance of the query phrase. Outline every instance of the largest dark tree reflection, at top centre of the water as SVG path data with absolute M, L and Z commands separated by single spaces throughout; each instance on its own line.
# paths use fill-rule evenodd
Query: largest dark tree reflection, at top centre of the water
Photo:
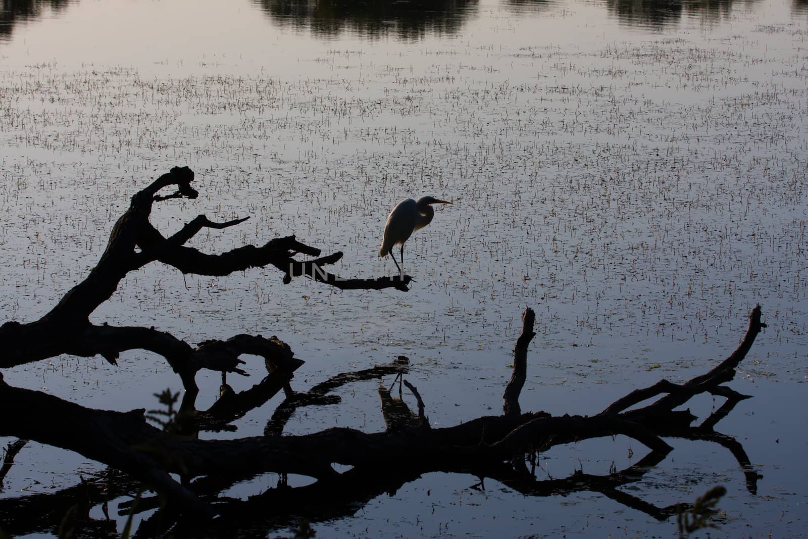
M 458 32 L 478 0 L 253 0 L 283 26 L 310 28 L 322 37 L 356 32 L 364 37 L 417 40 Z

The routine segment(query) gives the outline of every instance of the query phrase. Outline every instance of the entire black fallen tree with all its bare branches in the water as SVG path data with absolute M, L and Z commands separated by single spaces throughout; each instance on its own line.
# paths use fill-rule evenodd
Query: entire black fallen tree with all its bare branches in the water
M 197 192 L 191 187 L 193 179 L 193 172 L 187 167 L 174 168 L 137 192 L 114 225 L 106 251 L 86 280 L 69 290 L 39 320 L 6 322 L 0 327 L 0 345 L 6 351 L 0 356 L 0 366 L 27 364 L 62 353 L 101 355 L 114 364 L 120 352 L 143 348 L 164 357 L 186 389 L 179 414 L 168 416 L 167 421 L 161 419 L 161 429 L 147 423 L 144 410 L 94 410 L 40 391 L 12 387 L 0 374 L 0 410 L 5 411 L 0 419 L 0 436 L 36 440 L 109 466 L 102 474 L 82 478 L 79 485 L 63 491 L 0 500 L 0 521 L 6 533 L 53 533 L 67 526 L 81 528 L 83 537 L 108 537 L 110 524 L 91 519 L 90 508 L 99 505 L 106 514 L 107 500 L 124 494 L 135 498 L 121 508 L 124 513 L 159 507 L 138 530 L 145 537 L 157 536 L 168 529 L 178 536 L 193 535 L 200 525 L 213 536 L 232 535 L 238 530 L 255 533 L 280 524 L 293 524 L 301 516 L 314 521 L 349 516 L 368 500 L 396 491 L 431 471 L 473 474 L 480 478 L 481 487 L 484 478 L 494 478 L 532 496 L 597 491 L 654 518 L 666 519 L 675 514 L 675 506 L 655 507 L 617 489 L 638 481 L 651 466 L 663 461 L 671 452 L 671 446 L 663 440 L 665 437 L 708 440 L 727 448 L 745 470 L 748 490 L 755 492 L 760 476 L 751 468 L 743 447 L 730 436 L 715 432 L 713 427 L 739 400 L 747 398 L 723 384 L 733 379 L 735 368 L 765 327 L 760 321 L 760 306 L 751 311 L 739 347 L 708 373 L 684 384 L 659 381 L 617 399 L 595 415 L 556 417 L 542 411 L 521 411 L 519 397 L 528 368 L 528 345 L 535 335 L 535 317 L 528 309 L 523 314 L 522 333 L 514 348 L 514 371 L 504 390 L 502 415 L 484 416 L 454 427 L 431 428 L 422 396 L 414 385 L 402 380 L 398 398 L 393 396 L 392 388 L 379 390 L 385 432 L 335 427 L 303 436 L 284 436 L 288 419 L 302 406 L 336 404 L 339 397 L 331 393 L 356 381 L 393 374 L 403 377 L 409 371 L 408 360 L 399 357 L 389 364 L 338 374 L 298 392 L 292 389 L 292 376 L 303 362 L 274 336 L 235 335 L 192 347 L 154 328 L 96 326 L 89 322 L 90 314 L 112 296 L 128 272 L 158 261 L 200 275 L 227 275 L 246 267 L 271 265 L 283 274 L 284 283 L 295 276 L 307 276 L 323 285 L 340 288 L 406 291 L 410 277 L 340 279 L 323 266 L 339 260 L 342 253 L 320 257 L 318 249 L 298 242 L 293 236 L 220 255 L 184 246 L 203 228 L 224 229 L 244 219 L 214 223 L 200 216 L 165 238 L 149 223 L 151 209 L 166 200 L 196 198 Z M 175 191 L 159 194 L 164 189 Z M 318 258 L 300 260 L 297 255 Z M 226 375 L 243 373 L 239 358 L 244 354 L 262 356 L 267 376 L 237 393 L 227 385 Z M 208 410 L 198 411 L 195 377 L 202 368 L 221 372 L 222 385 L 217 402 Z M 415 396 L 416 413 L 403 402 L 402 385 Z M 234 420 L 263 406 L 281 391 L 284 401 L 274 412 L 267 412 L 263 436 L 198 439 L 200 431 L 235 430 Z M 689 411 L 675 408 L 702 393 L 724 397 L 726 402 L 703 423 L 693 425 L 696 418 Z M 172 402 L 170 394 L 163 397 Z M 656 400 L 636 407 L 650 398 Z M 12 410 L 13 413 L 9 412 Z M 558 444 L 618 434 L 638 440 L 649 452 L 637 464 L 605 476 L 576 473 L 565 479 L 536 478 L 537 452 Z M 13 445 L 17 452 L 24 444 Z M 0 481 L 9 470 L 13 473 L 14 454 L 11 446 L 9 449 L 7 454 L 11 458 L 6 457 L 3 463 Z M 395 466 L 391 467 L 390 462 L 395 462 Z M 351 469 L 339 473 L 334 463 Z M 279 474 L 281 479 L 276 488 L 246 501 L 221 496 L 234 483 L 267 472 Z M 179 475 L 180 480 L 170 474 Z M 309 476 L 314 482 L 292 488 L 284 481 L 287 474 Z M 157 495 L 142 495 L 141 485 Z

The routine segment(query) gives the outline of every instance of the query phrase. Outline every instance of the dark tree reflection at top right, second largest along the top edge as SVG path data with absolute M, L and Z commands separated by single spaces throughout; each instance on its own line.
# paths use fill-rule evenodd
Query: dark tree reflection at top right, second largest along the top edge
M 758 0 L 606 0 L 606 5 L 621 23 L 662 30 L 679 23 L 682 15 L 715 24 L 729 19 L 734 7 L 756 2 Z

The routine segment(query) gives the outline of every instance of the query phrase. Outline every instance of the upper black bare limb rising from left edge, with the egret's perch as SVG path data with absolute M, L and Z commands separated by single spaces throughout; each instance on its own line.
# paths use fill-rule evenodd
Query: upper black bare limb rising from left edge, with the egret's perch
M 183 340 L 155 331 L 154 328 L 90 324 L 90 314 L 112 297 L 120 280 L 128 272 L 152 262 L 166 263 L 183 273 L 208 276 L 229 275 L 250 267 L 275 266 L 288 279 L 292 276 L 312 276 L 314 280 L 343 289 L 408 289 L 407 285 L 411 281 L 409 276 L 400 279 L 342 279 L 322 271 L 324 265 L 341 259 L 342 253 L 309 261 L 294 259 L 298 254 L 320 255 L 319 249 L 299 242 L 294 236 L 274 238 L 263 246 L 242 246 L 217 255 L 208 255 L 184 246 L 204 228 L 226 229 L 241 224 L 246 217 L 217 223 L 200 215 L 169 238 L 165 238 L 149 222 L 152 208 L 155 203 L 165 200 L 196 199 L 198 192 L 191 187 L 193 180 L 194 173 L 187 166 L 175 167 L 135 193 L 128 210 L 112 227 L 106 250 L 85 280 L 65 293 L 53 310 L 39 320 L 27 323 L 6 322 L 0 326 L 0 346 L 6 351 L 0 357 L 0 368 L 14 367 L 63 353 L 87 357 L 100 355 L 116 364 L 121 352 L 145 349 L 165 357 L 191 394 L 196 393 L 194 377 L 200 368 L 210 368 L 222 373 L 243 373 L 238 368 L 241 363 L 238 353 L 249 352 L 239 350 L 239 345 L 234 343 L 228 344 L 230 353 L 217 356 L 208 352 L 208 349 L 215 347 L 213 343 L 207 343 L 208 349 L 194 349 Z M 175 191 L 167 195 L 159 194 L 170 187 L 174 187 Z M 244 348 L 247 346 L 246 343 L 243 345 Z

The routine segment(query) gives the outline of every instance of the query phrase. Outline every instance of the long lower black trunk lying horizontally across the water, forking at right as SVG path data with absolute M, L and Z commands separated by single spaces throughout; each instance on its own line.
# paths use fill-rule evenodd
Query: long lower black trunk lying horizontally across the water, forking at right
M 759 321 L 753 311 L 751 329 L 747 331 L 742 343 L 746 350 L 756 335 L 755 324 Z M 733 365 L 737 365 L 742 359 L 737 354 L 733 354 L 730 358 Z M 722 363 L 726 364 L 726 361 Z M 387 366 L 332 378 L 305 394 L 295 394 L 289 389 L 291 396 L 288 395 L 286 406 L 293 411 L 297 405 L 305 406 L 309 402 L 322 404 L 325 402 L 323 399 L 328 396 L 327 393 L 340 385 L 402 370 L 406 370 L 406 363 L 397 360 Z M 282 369 L 280 372 L 283 372 Z M 718 370 L 713 369 L 711 372 Z M 680 391 L 676 388 L 685 387 L 710 392 L 713 389 L 711 383 L 718 384 L 718 380 L 724 379 L 726 373 L 717 377 L 700 376 L 683 385 L 675 385 L 673 390 Z M 272 391 L 276 393 L 284 385 L 288 386 L 288 381 L 280 378 L 272 385 Z M 341 508 L 337 512 L 342 514 L 347 510 L 348 500 L 354 503 L 351 507 L 356 507 L 356 502 L 369 499 L 368 496 L 378 495 L 380 491 L 395 490 L 403 482 L 411 481 L 420 474 L 440 470 L 474 474 L 481 478 L 497 478 L 515 488 L 518 486 L 517 490 L 531 495 L 549 495 L 564 491 L 565 488 L 599 491 L 655 517 L 664 518 L 671 514 L 670 508 L 656 509 L 642 500 L 633 499 L 615 490 L 616 486 L 623 484 L 622 482 L 636 480 L 638 474 L 642 475 L 647 469 L 645 466 L 642 470 L 629 467 L 627 470 L 602 478 L 575 474 L 567 480 L 565 487 L 564 480 L 537 482 L 532 474 L 526 473 L 527 468 L 516 466 L 511 462 L 514 454 L 525 452 L 528 448 L 531 451 L 544 451 L 558 444 L 616 434 L 629 436 L 650 449 L 648 456 L 641 461 L 644 463 L 662 459 L 671 451 L 670 445 L 663 440 L 664 436 L 713 441 L 729 448 L 739 464 L 747 470 L 747 486 L 750 489 L 754 488 L 754 483 L 759 477 L 751 470 L 746 453 L 743 453 L 743 448 L 735 440 L 704 427 L 680 427 L 684 419 L 692 420 L 693 416 L 663 410 L 656 403 L 650 405 L 653 406 L 651 412 L 645 411 L 642 415 L 625 411 L 604 412 L 591 417 L 551 417 L 538 412 L 482 417 L 455 427 L 436 429 L 423 428 L 422 423 L 415 422 L 410 426 L 375 433 L 335 427 L 301 436 L 269 435 L 237 440 L 196 440 L 167 436 L 166 433 L 145 423 L 141 411 L 128 413 L 92 411 L 40 392 L 0 385 L 0 406 L 6 406 L 11 402 L 15 402 L 16 406 L 24 406 L 32 412 L 24 421 L 11 421 L 11 424 L 2 425 L 0 435 L 24 436 L 46 444 L 69 448 L 87 457 L 115 465 L 162 491 L 175 509 L 181 512 L 191 511 L 196 516 L 241 514 L 240 507 L 246 506 L 235 500 L 218 499 L 214 494 L 217 482 L 203 481 L 180 485 L 168 476 L 169 473 L 182 474 L 186 478 L 197 476 L 234 478 L 276 472 L 282 475 L 305 474 L 316 479 L 310 486 L 295 489 L 279 487 L 277 491 L 271 489 L 259 499 L 250 500 L 250 505 L 259 503 L 260 500 L 263 500 L 263 503 L 269 503 L 267 500 L 271 500 L 271 504 L 278 511 L 282 507 L 294 505 L 294 500 L 303 499 L 309 506 L 317 505 L 318 499 L 324 505 L 333 506 L 333 500 L 326 503 L 326 492 L 333 493 L 337 488 L 347 496 L 343 500 L 344 504 L 338 504 Z M 617 403 L 625 402 L 627 402 L 625 398 L 617 401 Z M 671 416 L 671 413 L 677 415 Z M 61 419 L 65 414 L 74 418 L 70 427 L 65 427 L 66 423 Z M 419 415 L 415 419 L 421 417 L 423 416 Z M 667 417 L 673 417 L 675 421 L 672 423 L 660 421 L 660 418 Z M 280 432 L 287 419 L 288 413 L 284 413 L 283 419 L 267 430 Z M 44 431 L 40 428 L 42 426 L 45 427 Z M 67 436 L 65 429 L 69 429 L 71 436 Z M 96 440 L 90 444 L 86 441 L 91 439 L 90 432 L 105 432 L 105 436 L 100 442 Z M 323 448 L 327 450 L 323 451 Z M 352 468 L 339 474 L 331 467 L 332 462 Z M 381 473 L 381 470 L 389 470 L 390 462 L 396 463 L 396 474 Z M 360 482 L 360 478 L 364 482 Z M 207 488 L 204 487 L 206 484 Z M 218 482 L 218 486 L 221 486 L 221 482 Z M 208 498 L 207 501 L 199 497 L 202 492 L 206 492 L 204 496 Z M 283 503 L 280 500 L 283 500 Z M 204 512 L 203 507 L 206 507 Z M 273 511 L 272 514 L 277 516 L 278 512 Z

